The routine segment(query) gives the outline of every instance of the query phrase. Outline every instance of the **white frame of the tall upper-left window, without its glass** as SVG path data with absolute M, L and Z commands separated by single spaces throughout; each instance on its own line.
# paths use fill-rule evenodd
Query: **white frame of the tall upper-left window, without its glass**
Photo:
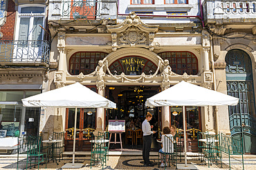
M 37 13 L 31 11 L 29 12 L 22 12 L 21 10 L 24 8 L 42 8 L 44 12 Z M 46 6 L 41 4 L 30 4 L 28 5 L 21 5 L 18 8 L 18 14 L 17 14 L 17 23 L 15 28 L 15 41 L 42 41 L 44 39 L 44 29 L 45 28 L 45 21 L 46 21 Z M 29 21 L 28 23 L 28 32 L 27 32 L 27 38 L 21 39 L 21 24 L 22 22 Z M 42 25 L 40 24 L 42 23 Z M 37 24 L 37 25 L 35 25 Z M 42 28 L 38 28 L 39 25 L 42 26 Z M 36 29 L 40 30 L 41 32 L 39 36 L 36 35 L 37 32 L 34 32 Z M 35 33 L 35 34 L 34 34 Z M 26 34 L 26 33 L 25 33 Z M 26 36 L 26 35 L 25 35 Z

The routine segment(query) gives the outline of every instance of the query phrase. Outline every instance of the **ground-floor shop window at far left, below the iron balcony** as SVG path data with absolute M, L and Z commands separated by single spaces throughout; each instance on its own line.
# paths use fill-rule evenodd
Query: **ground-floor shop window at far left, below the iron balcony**
M 6 136 L 37 135 L 39 107 L 23 107 L 21 99 L 41 93 L 40 91 L 2 91 L 0 92 L 0 130 Z M 21 118 L 24 114 L 25 119 Z

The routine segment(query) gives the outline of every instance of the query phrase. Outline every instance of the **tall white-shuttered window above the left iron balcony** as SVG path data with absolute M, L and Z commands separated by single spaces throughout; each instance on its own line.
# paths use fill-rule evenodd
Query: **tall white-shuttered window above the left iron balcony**
M 43 40 L 45 12 L 44 7 L 19 7 L 15 40 Z

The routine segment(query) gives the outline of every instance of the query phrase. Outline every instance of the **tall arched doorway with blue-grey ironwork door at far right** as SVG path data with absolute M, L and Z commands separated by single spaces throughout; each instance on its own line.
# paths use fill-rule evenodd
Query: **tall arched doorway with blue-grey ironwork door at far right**
M 255 97 L 250 57 L 242 50 L 230 50 L 226 55 L 228 95 L 239 98 L 229 106 L 230 131 L 235 138 L 244 137 L 245 153 L 256 153 Z

